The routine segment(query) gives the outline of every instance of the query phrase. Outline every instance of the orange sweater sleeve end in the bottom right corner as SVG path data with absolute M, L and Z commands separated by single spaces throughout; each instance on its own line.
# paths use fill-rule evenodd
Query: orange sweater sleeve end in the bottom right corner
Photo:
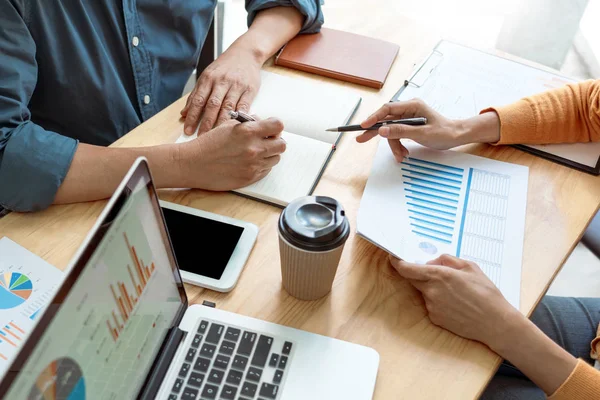
M 549 400 L 589 400 L 600 396 L 600 371 L 583 360 L 571 372 L 567 380 L 549 396 Z

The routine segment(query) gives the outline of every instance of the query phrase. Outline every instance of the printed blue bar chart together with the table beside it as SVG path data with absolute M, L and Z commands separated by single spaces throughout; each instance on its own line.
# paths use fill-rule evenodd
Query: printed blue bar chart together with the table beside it
M 402 163 L 412 233 L 434 254 L 435 243 L 456 243 L 456 256 L 479 264 L 499 284 L 510 176 L 409 157 Z M 461 188 L 464 186 L 464 200 Z

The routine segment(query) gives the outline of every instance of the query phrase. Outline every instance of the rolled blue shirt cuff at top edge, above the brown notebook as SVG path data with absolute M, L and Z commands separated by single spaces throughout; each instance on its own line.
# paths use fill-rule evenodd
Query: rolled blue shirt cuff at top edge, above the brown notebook
M 300 33 L 317 33 L 325 20 L 321 10 L 322 4 L 322 0 L 247 0 L 248 26 L 252 25 L 256 14 L 261 10 L 273 7 L 295 7 L 304 15 L 304 24 Z

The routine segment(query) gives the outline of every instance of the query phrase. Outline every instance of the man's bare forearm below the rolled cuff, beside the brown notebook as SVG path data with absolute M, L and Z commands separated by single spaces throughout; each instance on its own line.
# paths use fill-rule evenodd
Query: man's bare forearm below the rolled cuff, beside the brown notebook
M 304 16 L 294 7 L 262 10 L 256 15 L 248 31 L 231 45 L 230 50 L 250 51 L 262 65 L 300 32 L 303 22 Z M 277 34 L 274 35 L 273 32 Z

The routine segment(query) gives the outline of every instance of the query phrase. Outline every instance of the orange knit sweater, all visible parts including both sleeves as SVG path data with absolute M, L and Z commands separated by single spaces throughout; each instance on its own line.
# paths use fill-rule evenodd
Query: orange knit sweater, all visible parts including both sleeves
M 500 117 L 498 144 L 545 144 L 600 141 L 600 80 L 571 84 L 527 97 L 508 106 L 489 108 Z M 600 354 L 600 327 L 591 344 Z M 582 360 L 552 400 L 600 399 L 600 371 Z

